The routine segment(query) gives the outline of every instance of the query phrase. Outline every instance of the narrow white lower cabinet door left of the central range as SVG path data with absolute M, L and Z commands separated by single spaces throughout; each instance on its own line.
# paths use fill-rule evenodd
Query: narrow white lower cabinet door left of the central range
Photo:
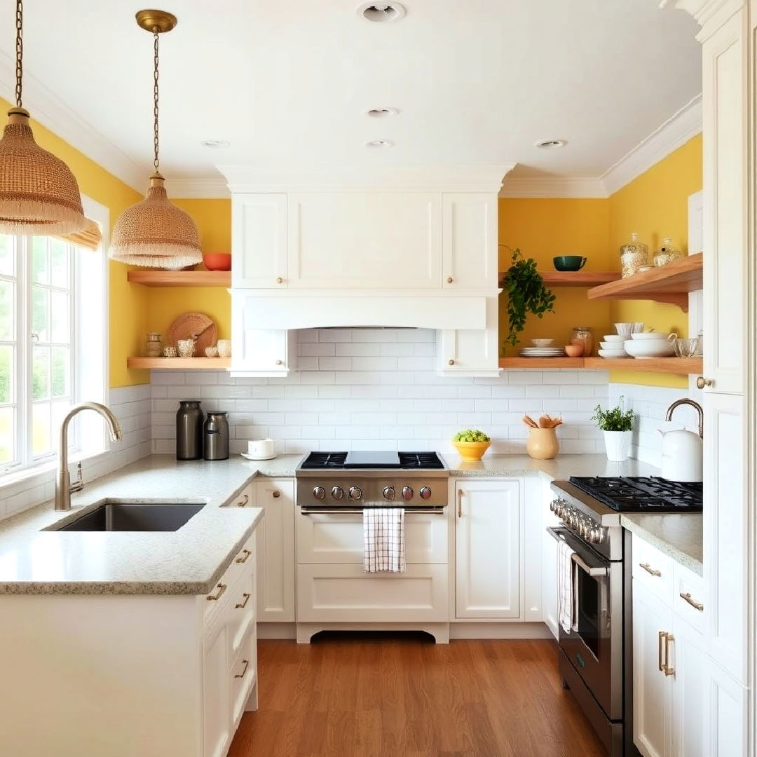
M 294 481 L 256 481 L 257 506 L 265 517 L 257 528 L 257 619 L 294 622 Z

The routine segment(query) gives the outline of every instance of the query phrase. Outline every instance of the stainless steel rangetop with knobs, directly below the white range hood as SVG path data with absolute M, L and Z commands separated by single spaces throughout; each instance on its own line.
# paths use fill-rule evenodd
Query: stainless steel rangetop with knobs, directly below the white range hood
M 449 471 L 435 452 L 311 452 L 294 476 L 295 501 L 309 512 L 447 505 Z

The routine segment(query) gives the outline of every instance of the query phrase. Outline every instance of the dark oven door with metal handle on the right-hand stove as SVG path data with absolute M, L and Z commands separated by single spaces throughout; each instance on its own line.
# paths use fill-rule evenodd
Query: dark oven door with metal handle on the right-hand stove
M 571 631 L 559 624 L 559 645 L 610 720 L 622 718 L 623 569 L 594 552 L 568 528 L 548 528 L 573 550 Z M 557 566 L 558 572 L 560 565 Z

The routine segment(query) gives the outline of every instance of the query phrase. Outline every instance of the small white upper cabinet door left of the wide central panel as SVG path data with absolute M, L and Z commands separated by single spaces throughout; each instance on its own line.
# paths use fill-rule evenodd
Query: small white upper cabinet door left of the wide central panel
M 286 220 L 285 194 L 233 196 L 234 288 L 286 287 Z

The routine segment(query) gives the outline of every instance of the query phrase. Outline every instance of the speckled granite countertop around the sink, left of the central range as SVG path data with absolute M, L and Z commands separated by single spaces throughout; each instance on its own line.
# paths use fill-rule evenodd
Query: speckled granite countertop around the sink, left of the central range
M 68 512 L 55 512 L 47 502 L 0 522 L 0 593 L 207 593 L 263 516 L 257 507 L 221 506 L 256 475 L 292 475 L 300 458 L 178 462 L 153 455 L 89 481 L 72 495 Z M 43 530 L 73 521 L 107 499 L 205 506 L 178 531 Z

